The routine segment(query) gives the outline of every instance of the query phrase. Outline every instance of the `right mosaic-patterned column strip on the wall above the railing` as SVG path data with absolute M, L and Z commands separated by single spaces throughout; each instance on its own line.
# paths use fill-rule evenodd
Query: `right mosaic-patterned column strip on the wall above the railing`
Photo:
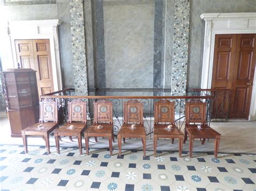
M 190 1 L 175 0 L 172 53 L 172 95 L 184 96 L 187 83 Z

